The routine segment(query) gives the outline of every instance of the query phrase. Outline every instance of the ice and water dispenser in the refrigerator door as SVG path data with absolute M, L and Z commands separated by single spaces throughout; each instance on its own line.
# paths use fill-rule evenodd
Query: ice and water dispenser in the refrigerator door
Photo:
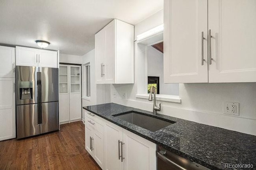
M 33 81 L 20 82 L 20 100 L 33 99 Z

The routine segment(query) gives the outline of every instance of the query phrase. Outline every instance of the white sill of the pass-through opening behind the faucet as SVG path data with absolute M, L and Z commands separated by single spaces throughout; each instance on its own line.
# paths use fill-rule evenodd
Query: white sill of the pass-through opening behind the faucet
M 148 99 L 148 96 L 149 94 L 136 94 L 136 98 Z M 180 96 L 167 95 L 167 94 L 156 94 L 156 100 L 181 103 Z

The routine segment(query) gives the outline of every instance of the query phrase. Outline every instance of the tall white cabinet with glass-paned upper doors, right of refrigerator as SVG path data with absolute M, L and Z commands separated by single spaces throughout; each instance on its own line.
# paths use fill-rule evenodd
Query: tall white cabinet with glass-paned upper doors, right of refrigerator
M 81 120 L 81 66 L 60 64 L 59 104 L 60 124 Z

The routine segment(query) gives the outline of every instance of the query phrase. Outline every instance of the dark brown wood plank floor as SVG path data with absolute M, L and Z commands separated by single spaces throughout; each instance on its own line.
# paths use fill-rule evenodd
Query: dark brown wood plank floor
M 0 170 L 100 170 L 84 147 L 81 121 L 60 125 L 60 131 L 23 140 L 0 141 Z

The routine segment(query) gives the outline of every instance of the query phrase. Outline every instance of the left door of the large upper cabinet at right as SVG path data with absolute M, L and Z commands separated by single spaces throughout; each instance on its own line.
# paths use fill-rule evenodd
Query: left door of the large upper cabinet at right
M 207 0 L 164 0 L 165 83 L 208 82 L 207 30 Z

